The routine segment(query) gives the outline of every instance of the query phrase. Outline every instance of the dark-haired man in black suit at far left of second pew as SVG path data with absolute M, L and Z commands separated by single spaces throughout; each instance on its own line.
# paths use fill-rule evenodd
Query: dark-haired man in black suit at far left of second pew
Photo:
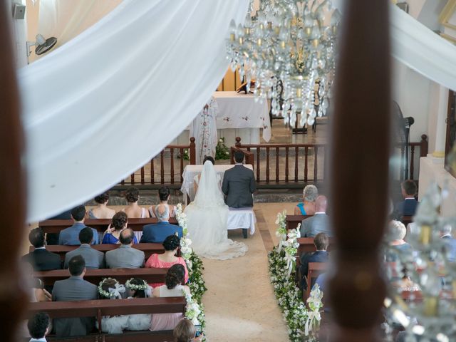
M 35 250 L 24 255 L 22 261 L 31 264 L 35 271 L 49 271 L 50 269 L 62 268 L 60 256 L 46 250 L 46 239 L 43 229 L 31 229 L 31 232 L 28 234 L 28 241 L 35 247 Z

